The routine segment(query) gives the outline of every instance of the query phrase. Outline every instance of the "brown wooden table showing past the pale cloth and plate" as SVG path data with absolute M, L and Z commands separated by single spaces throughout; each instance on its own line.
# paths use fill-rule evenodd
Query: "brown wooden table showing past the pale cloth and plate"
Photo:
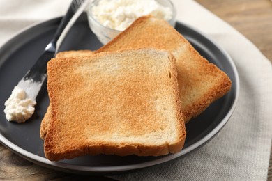
M 197 0 L 251 40 L 272 62 L 272 2 L 270 0 Z M 0 145 L 0 179 L 10 180 L 111 180 L 53 171 L 32 164 Z M 272 180 L 270 159 L 268 180 Z

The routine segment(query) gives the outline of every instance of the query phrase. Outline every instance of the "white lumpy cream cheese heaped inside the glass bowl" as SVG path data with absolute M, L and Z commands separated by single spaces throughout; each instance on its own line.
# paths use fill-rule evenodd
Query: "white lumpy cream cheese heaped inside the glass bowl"
M 164 7 L 155 0 L 100 0 L 93 6 L 92 13 L 93 18 L 100 24 L 119 31 L 125 30 L 135 19 L 144 15 L 153 15 L 168 21 L 173 14 L 169 7 Z

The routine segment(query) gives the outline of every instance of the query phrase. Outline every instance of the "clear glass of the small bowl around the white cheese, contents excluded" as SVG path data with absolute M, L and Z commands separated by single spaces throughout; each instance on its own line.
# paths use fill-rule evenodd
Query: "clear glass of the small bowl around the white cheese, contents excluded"
M 88 15 L 88 22 L 91 31 L 96 35 L 98 40 L 103 43 L 103 45 L 107 44 L 110 40 L 112 40 L 114 37 L 116 37 L 119 33 L 122 31 L 116 30 L 116 29 L 110 29 L 107 26 L 103 26 L 103 24 L 100 24 L 97 19 L 93 17 L 92 8 L 93 6 L 97 6 L 100 0 L 94 0 L 91 1 L 89 4 L 88 9 L 86 10 Z M 114 0 L 112 0 L 114 1 Z M 156 0 L 160 5 L 169 7 L 170 10 L 172 10 L 172 18 L 169 19 L 167 22 L 171 24 L 172 26 L 175 26 L 176 24 L 176 9 L 174 8 L 174 5 L 172 1 L 170 0 Z

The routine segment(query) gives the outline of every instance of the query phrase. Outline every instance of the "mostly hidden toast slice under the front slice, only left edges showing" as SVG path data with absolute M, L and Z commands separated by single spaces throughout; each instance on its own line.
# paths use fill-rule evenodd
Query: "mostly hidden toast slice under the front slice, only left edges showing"
M 56 58 L 61 57 L 77 57 L 77 56 L 90 56 L 93 54 L 91 50 L 69 50 L 69 51 L 63 51 L 56 54 Z M 47 126 L 51 119 L 51 107 L 50 105 L 47 108 L 47 111 L 45 113 L 45 116 L 43 117 L 42 122 L 40 123 L 40 138 L 45 139 L 45 135 L 47 133 Z

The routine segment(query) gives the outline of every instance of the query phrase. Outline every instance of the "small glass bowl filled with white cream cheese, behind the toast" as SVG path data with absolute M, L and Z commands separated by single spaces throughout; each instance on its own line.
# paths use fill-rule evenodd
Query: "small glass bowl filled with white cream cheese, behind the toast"
M 95 0 L 87 10 L 89 26 L 106 44 L 144 15 L 165 19 L 175 25 L 176 10 L 169 0 Z

